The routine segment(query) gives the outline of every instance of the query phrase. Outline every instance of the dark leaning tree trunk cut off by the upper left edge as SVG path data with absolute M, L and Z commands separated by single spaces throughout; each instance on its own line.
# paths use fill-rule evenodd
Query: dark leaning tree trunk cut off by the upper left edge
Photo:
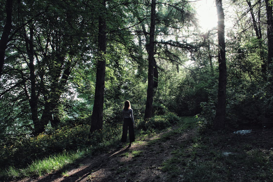
M 5 52 L 8 44 L 8 37 L 11 31 L 11 16 L 12 16 L 12 0 L 6 1 L 6 22 L 3 29 L 3 33 L 0 39 L 0 77 L 3 72 L 4 62 L 5 62 Z

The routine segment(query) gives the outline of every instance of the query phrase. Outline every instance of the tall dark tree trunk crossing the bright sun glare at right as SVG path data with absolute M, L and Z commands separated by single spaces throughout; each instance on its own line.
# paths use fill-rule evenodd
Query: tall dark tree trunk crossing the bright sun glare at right
M 218 16 L 218 63 L 219 63 L 219 83 L 216 115 L 214 118 L 213 128 L 221 130 L 225 127 L 225 102 L 226 102 L 226 85 L 227 85 L 227 66 L 225 62 L 225 23 L 224 10 L 222 7 L 222 0 L 215 1 Z

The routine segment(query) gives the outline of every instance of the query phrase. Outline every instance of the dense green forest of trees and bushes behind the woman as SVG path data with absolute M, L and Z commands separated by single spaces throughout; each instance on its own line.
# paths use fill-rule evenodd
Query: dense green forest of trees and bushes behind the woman
M 116 138 L 125 100 L 141 132 L 270 124 L 271 1 L 215 5 L 204 32 L 189 1 L 1 0 L 1 168 Z

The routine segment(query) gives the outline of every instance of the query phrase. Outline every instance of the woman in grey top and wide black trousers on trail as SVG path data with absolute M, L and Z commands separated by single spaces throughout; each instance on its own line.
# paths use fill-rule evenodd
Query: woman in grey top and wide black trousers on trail
M 135 120 L 133 117 L 133 109 L 131 109 L 131 105 L 129 100 L 126 100 L 124 103 L 124 108 L 122 109 L 123 115 L 123 128 L 122 128 L 122 136 L 121 136 L 121 144 L 118 147 L 122 147 L 122 145 L 127 141 L 127 131 L 129 129 L 129 141 L 130 144 L 128 147 L 131 147 L 131 143 L 135 141 L 135 133 L 134 128 Z

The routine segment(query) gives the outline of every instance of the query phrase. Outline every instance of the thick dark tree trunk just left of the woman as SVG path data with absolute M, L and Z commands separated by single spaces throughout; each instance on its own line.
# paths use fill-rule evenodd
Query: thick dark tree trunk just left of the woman
M 101 1 L 103 8 L 106 7 L 106 1 Z M 105 10 L 103 10 L 104 12 Z M 99 47 L 96 73 L 96 88 L 93 112 L 91 116 L 90 133 L 102 129 L 103 101 L 105 87 L 105 52 L 106 52 L 106 21 L 103 14 L 99 16 Z

